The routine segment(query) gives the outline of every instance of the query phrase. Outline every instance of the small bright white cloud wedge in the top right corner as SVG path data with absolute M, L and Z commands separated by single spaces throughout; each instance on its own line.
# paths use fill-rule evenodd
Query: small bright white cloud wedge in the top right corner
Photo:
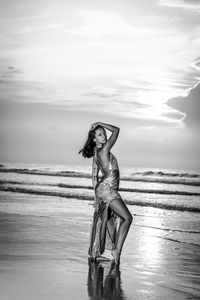
M 159 5 L 181 8 L 197 14 L 200 13 L 200 3 L 195 0 L 159 0 Z

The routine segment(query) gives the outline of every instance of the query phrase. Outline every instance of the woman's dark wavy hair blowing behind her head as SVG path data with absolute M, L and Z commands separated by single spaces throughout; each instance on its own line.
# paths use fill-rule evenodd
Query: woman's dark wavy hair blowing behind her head
M 78 152 L 79 154 L 81 153 L 84 158 L 90 158 L 94 156 L 94 147 L 96 146 L 95 141 L 93 139 L 95 138 L 95 132 L 97 129 L 102 128 L 104 129 L 101 125 L 97 125 L 94 129 L 90 130 L 88 132 L 88 137 L 85 142 L 85 145 L 83 148 Z

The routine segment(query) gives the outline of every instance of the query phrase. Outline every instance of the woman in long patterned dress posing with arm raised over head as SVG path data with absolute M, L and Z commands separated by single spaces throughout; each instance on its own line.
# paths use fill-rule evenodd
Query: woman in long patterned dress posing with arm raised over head
M 105 128 L 112 132 L 108 140 Z M 104 250 L 110 249 L 115 263 L 120 262 L 122 247 L 132 223 L 132 215 L 118 193 L 117 159 L 110 152 L 118 135 L 118 127 L 102 122 L 94 123 L 90 127 L 84 147 L 79 151 L 85 158 L 93 157 L 95 212 L 89 255 L 91 259 L 98 261 L 101 260 Z M 99 170 L 102 173 L 101 180 L 98 177 Z

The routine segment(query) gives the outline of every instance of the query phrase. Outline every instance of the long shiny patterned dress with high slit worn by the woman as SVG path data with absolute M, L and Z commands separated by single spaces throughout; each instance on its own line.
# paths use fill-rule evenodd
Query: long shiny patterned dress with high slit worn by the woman
M 100 256 L 105 249 L 115 247 L 120 218 L 109 209 L 109 204 L 116 199 L 122 200 L 118 193 L 119 167 L 116 157 L 110 153 L 107 168 L 102 168 L 97 150 L 94 159 L 102 172 L 102 178 L 95 188 L 98 208 L 94 211 L 90 236 L 89 256 L 92 258 Z

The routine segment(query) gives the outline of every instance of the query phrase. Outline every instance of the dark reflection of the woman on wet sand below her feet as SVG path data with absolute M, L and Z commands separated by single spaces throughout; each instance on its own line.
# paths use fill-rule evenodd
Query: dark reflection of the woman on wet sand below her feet
M 118 264 L 89 262 L 88 296 L 91 300 L 125 300 Z

